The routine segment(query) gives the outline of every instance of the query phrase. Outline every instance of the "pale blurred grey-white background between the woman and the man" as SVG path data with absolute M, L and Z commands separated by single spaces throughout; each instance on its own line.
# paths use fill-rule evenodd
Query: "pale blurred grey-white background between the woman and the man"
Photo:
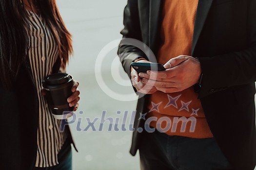
M 83 131 L 88 125 L 86 118 L 93 121 L 100 118 L 103 111 L 106 111 L 106 117 L 120 118 L 119 122 L 127 111 L 128 128 L 131 114 L 136 108 L 136 95 L 117 58 L 126 2 L 127 0 L 57 0 L 61 16 L 73 35 L 74 55 L 67 72 L 79 81 L 81 92 L 79 110 L 76 112 L 81 123 L 79 127 L 78 121 L 71 124 L 79 150 L 77 153 L 73 149 L 74 170 L 139 170 L 138 155 L 133 157 L 129 153 L 132 132 L 109 132 L 107 121 L 101 132 L 95 132 L 91 127 Z M 105 47 L 109 43 L 110 47 Z M 108 51 L 103 52 L 103 57 L 98 57 L 104 47 Z M 98 83 L 96 77 L 101 77 L 101 82 Z M 108 94 L 101 89 L 104 87 L 109 88 L 104 90 L 109 91 Z M 115 97 L 115 93 L 119 94 L 119 98 Z M 130 102 L 126 100 L 127 94 L 131 96 Z M 120 114 L 117 114 L 118 111 Z M 98 131 L 99 120 L 95 127 Z

